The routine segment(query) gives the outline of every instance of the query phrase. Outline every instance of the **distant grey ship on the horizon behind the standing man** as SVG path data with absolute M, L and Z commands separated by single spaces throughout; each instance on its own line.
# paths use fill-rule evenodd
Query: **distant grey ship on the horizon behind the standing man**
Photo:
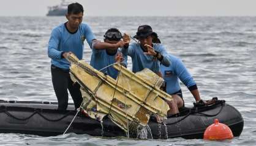
M 54 5 L 52 7 L 48 7 L 49 11 L 47 13 L 47 16 L 64 16 L 64 15 L 66 15 L 67 5 L 69 5 L 69 2 L 66 2 L 65 0 L 61 0 L 61 4 Z

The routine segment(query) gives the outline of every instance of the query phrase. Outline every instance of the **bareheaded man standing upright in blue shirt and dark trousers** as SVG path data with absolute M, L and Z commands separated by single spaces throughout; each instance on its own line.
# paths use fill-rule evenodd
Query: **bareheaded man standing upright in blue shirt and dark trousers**
M 48 57 L 51 58 L 51 77 L 53 88 L 58 99 L 58 109 L 65 110 L 68 103 L 68 92 L 72 96 L 75 108 L 82 102 L 80 86 L 73 83 L 69 75 L 69 62 L 65 59 L 67 54 L 73 53 L 79 59 L 83 58 L 84 41 L 92 46 L 95 36 L 91 28 L 83 21 L 83 6 L 72 3 L 67 7 L 67 22 L 52 30 L 48 43 Z

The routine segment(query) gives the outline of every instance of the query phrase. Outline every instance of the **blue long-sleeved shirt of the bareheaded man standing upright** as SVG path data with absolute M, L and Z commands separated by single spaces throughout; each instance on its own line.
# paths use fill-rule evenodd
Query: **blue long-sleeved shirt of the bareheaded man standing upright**
M 83 58 L 84 41 L 86 40 L 91 47 L 94 39 L 95 36 L 88 24 L 80 24 L 75 33 L 69 32 L 65 24 L 59 25 L 52 30 L 48 43 L 48 57 L 51 58 L 51 64 L 69 70 L 70 64 L 65 58 L 61 57 L 62 52 L 72 52 L 81 60 Z

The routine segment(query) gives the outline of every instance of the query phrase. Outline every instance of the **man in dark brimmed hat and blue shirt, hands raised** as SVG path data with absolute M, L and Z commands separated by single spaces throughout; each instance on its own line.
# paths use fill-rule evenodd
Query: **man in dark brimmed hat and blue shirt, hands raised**
M 148 68 L 162 77 L 160 63 L 170 66 L 170 60 L 164 45 L 152 43 L 152 39 L 157 38 L 157 33 L 152 31 L 151 26 L 143 25 L 138 27 L 134 38 L 137 38 L 139 43 L 129 44 L 130 37 L 124 33 L 125 46 L 122 48 L 122 54 L 132 58 L 132 72 Z

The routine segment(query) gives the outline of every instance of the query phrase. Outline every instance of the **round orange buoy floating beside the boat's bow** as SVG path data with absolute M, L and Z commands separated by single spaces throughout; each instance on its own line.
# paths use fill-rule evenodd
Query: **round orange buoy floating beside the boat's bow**
M 219 123 L 218 119 L 215 119 L 214 123 L 209 125 L 203 134 L 203 139 L 206 140 L 224 140 L 232 139 L 233 137 L 234 136 L 230 128 L 224 123 Z

